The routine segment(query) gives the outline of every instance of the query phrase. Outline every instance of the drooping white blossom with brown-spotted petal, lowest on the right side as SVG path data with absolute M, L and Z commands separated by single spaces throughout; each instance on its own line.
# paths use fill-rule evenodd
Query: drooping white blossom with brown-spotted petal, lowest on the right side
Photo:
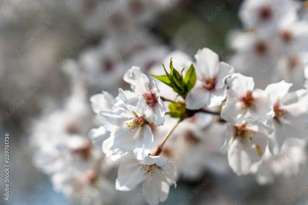
M 259 122 L 228 124 L 227 130 L 221 152 L 227 151 L 229 166 L 237 175 L 247 175 L 251 164 L 262 159 L 268 134 L 272 130 Z

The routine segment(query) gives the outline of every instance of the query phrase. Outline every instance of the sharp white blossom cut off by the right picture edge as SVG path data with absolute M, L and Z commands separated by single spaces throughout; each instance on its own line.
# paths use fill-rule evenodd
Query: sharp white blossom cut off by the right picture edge
M 308 135 L 308 96 L 305 89 L 289 93 L 291 83 L 281 81 L 265 88 L 274 104 L 274 120 L 270 135 L 270 152 L 277 155 L 286 138 L 306 138 Z

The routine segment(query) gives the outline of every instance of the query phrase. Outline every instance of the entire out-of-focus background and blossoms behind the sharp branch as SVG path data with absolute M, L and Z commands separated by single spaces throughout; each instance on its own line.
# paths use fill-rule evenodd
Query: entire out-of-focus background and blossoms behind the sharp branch
M 0 134 L 10 134 L 11 164 L 10 201 L 0 169 L 0 204 L 147 204 L 140 185 L 115 189 L 123 160 L 103 153 L 110 133 L 90 101 L 129 90 L 123 76 L 132 66 L 152 82 L 171 57 L 180 71 L 207 47 L 253 77 L 256 89 L 282 80 L 290 91 L 306 86 L 307 1 L 2 0 L 0 11 Z M 176 97 L 171 91 L 160 95 Z M 152 148 L 176 121 L 165 116 Z M 306 131 L 238 176 L 220 152 L 227 127 L 218 117 L 199 113 L 182 123 L 161 153 L 177 183 L 161 204 L 307 203 Z M 101 134 L 93 137 L 95 128 Z

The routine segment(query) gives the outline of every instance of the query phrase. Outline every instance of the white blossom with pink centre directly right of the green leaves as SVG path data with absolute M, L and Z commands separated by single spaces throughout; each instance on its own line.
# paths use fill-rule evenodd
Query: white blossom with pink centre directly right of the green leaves
M 225 100 L 225 80 L 234 68 L 225 62 L 219 62 L 217 53 L 208 48 L 198 50 L 196 58 L 197 82 L 185 99 L 186 108 L 200 109 L 218 106 Z

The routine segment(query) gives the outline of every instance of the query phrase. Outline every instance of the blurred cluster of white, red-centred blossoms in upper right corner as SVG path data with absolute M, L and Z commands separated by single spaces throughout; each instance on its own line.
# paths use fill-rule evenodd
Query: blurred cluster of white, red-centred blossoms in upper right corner
M 306 2 L 244 1 L 239 10 L 244 29 L 232 32 L 222 60 L 253 77 L 257 87 L 286 80 L 293 83 L 292 90 L 303 88 L 308 59 L 306 13 Z

